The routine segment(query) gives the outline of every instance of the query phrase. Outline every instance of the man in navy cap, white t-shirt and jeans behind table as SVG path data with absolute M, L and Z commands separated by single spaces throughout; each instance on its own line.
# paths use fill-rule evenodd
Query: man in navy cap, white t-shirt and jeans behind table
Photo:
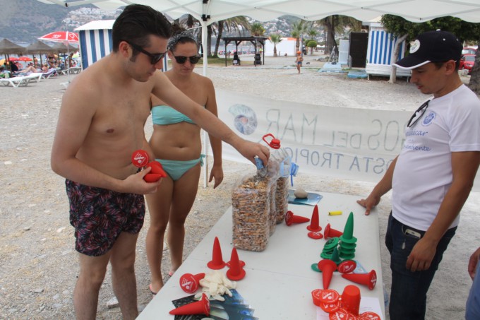
M 405 142 L 366 199 L 366 215 L 392 189 L 385 244 L 390 251 L 390 319 L 424 319 L 426 292 L 455 235 L 460 210 L 480 164 L 480 100 L 458 76 L 462 43 L 445 31 L 424 32 L 395 66 L 433 95 L 405 129 Z

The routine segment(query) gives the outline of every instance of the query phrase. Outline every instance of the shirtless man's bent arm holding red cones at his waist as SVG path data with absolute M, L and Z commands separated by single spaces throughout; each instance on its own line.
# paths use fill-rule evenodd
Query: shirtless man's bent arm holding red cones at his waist
M 78 90 L 73 88 L 64 94 L 52 146 L 50 159 L 52 170 L 66 179 L 88 186 L 137 194 L 155 192 L 160 182 L 148 184 L 143 181 L 143 176 L 150 168 L 121 180 L 104 174 L 76 158 L 90 129 L 95 115 L 95 105 L 95 102 L 88 101 L 85 95 L 80 96 Z

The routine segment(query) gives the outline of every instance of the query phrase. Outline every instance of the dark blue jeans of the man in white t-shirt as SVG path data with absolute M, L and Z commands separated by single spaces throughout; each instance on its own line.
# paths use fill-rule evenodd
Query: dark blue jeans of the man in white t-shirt
M 419 237 L 405 234 L 410 229 L 418 232 L 421 237 L 425 231 L 416 230 L 400 223 L 397 219 L 388 217 L 387 234 L 385 244 L 390 251 L 390 268 L 392 269 L 392 290 L 390 292 L 390 320 L 421 320 L 425 319 L 426 292 L 430 288 L 433 275 L 442 261 L 443 252 L 447 249 L 450 240 L 455 235 L 457 227 L 452 227 L 440 242 L 433 257 L 430 268 L 426 271 L 412 272 L 405 267 L 407 258 Z

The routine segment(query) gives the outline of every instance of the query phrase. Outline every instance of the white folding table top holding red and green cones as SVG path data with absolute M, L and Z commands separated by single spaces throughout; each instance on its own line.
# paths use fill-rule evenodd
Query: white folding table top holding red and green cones
M 327 223 L 340 231 L 344 230 L 349 213 L 354 213 L 354 237 L 356 242 L 355 260 L 366 271 L 374 269 L 377 283 L 373 290 L 364 285 L 357 285 L 362 297 L 376 297 L 385 319 L 383 301 L 383 282 L 380 261 L 380 241 L 378 237 L 378 215 L 373 210 L 364 215 L 364 208 L 356 203 L 360 196 L 321 193 L 323 198 L 318 203 L 320 226 Z M 313 206 L 289 204 L 289 210 L 295 215 L 311 218 Z M 342 211 L 342 215 L 328 215 L 329 211 Z M 236 290 L 244 300 L 255 309 L 253 316 L 259 319 L 317 319 L 316 305 L 313 304 L 311 292 L 323 288 L 322 274 L 311 270 L 312 263 L 320 261 L 325 239 L 311 239 L 307 236 L 309 223 L 287 226 L 277 225 L 270 237 L 267 248 L 261 252 L 237 250 L 239 259 L 246 263 L 246 276 L 237 282 Z M 320 231 L 323 233 L 323 230 Z M 212 260 L 215 237 L 220 240 L 222 256 L 225 262 L 232 253 L 232 207 L 212 227 L 205 238 L 188 256 L 181 267 L 172 275 L 160 292 L 138 316 L 138 319 L 174 319 L 169 311 L 174 309 L 172 300 L 189 294 L 181 290 L 179 278 L 184 273 L 208 273 L 208 261 Z M 222 269 L 226 273 L 227 267 Z M 340 294 L 346 285 L 356 285 L 335 273 L 330 289 Z

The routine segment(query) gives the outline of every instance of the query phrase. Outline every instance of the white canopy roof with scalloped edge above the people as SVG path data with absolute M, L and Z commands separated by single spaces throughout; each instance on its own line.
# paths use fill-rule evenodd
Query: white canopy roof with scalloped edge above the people
M 46 4 L 80 6 L 93 4 L 113 10 L 128 4 L 145 4 L 172 18 L 189 13 L 206 25 L 234 16 L 249 16 L 268 21 L 280 16 L 320 20 L 340 14 L 367 21 L 383 14 L 401 16 L 412 22 L 424 22 L 454 16 L 468 22 L 480 22 L 479 0 L 38 0 Z

